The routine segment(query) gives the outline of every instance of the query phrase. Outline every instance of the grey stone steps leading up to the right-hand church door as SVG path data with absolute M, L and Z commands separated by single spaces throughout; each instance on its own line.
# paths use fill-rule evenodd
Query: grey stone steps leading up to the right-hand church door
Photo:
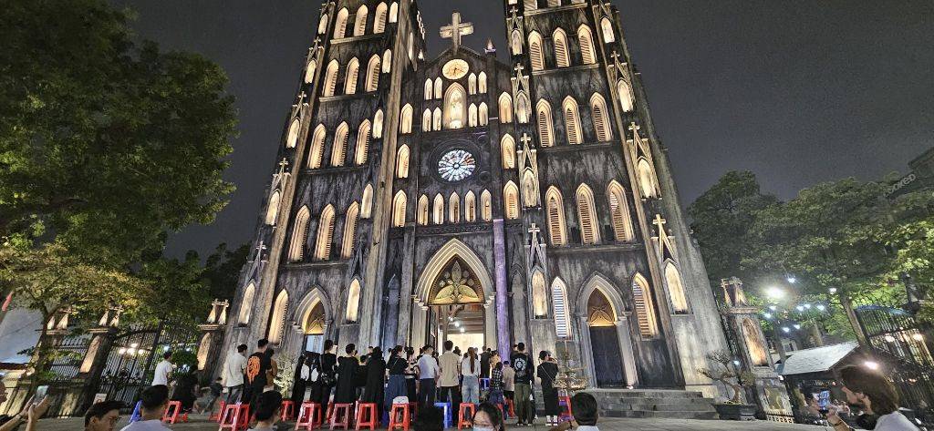
M 603 417 L 717 419 L 711 398 L 700 392 L 663 389 L 589 389 Z

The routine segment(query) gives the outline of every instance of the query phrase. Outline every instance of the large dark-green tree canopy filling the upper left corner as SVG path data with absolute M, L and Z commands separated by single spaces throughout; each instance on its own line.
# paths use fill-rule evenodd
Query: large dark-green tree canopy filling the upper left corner
M 127 21 L 104 0 L 0 8 L 0 237 L 134 262 L 233 190 L 226 76 L 135 44 Z

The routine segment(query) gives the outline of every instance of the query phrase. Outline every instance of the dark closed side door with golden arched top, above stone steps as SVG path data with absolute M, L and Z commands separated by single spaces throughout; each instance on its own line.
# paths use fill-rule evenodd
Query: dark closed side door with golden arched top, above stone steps
M 587 299 L 587 327 L 590 330 L 590 349 L 593 371 L 600 387 L 626 385 L 623 363 L 619 355 L 616 335 L 616 310 L 600 288 L 593 289 Z

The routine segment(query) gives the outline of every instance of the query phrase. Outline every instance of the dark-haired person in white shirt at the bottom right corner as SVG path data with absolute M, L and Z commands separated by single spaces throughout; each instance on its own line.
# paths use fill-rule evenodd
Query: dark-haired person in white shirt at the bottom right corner
M 847 404 L 863 410 L 856 420 L 861 427 L 876 431 L 917 431 L 918 427 L 899 412 L 899 393 L 884 374 L 865 367 L 849 366 L 840 370 L 837 381 L 842 385 Z M 871 415 L 878 416 L 875 426 L 862 426 L 861 421 Z M 828 408 L 827 422 L 836 431 L 852 429 L 843 422 L 834 406 Z

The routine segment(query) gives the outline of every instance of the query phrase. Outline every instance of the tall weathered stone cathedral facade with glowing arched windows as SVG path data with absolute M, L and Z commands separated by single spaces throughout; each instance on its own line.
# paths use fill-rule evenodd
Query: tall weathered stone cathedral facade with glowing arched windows
M 458 13 L 431 59 L 414 0 L 321 6 L 224 345 L 524 341 L 714 395 L 726 341 L 618 11 L 502 3 L 509 63 Z

